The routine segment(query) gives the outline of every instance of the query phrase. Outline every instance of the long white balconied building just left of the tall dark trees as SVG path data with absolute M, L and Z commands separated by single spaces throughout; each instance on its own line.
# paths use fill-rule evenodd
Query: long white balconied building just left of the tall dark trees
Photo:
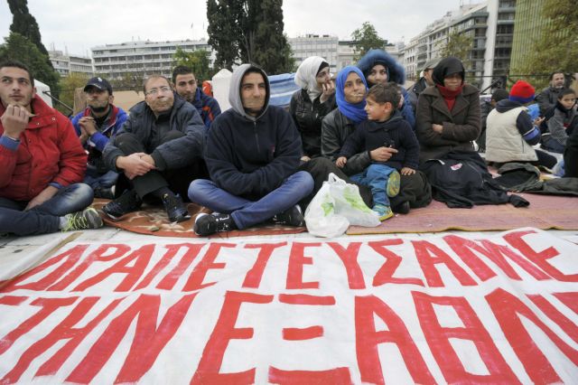
M 215 61 L 210 45 L 200 41 L 180 40 L 171 42 L 122 42 L 91 48 L 95 72 L 108 80 L 161 74 L 171 77 L 172 57 L 180 47 L 185 52 L 204 50 L 210 52 L 210 65 Z

